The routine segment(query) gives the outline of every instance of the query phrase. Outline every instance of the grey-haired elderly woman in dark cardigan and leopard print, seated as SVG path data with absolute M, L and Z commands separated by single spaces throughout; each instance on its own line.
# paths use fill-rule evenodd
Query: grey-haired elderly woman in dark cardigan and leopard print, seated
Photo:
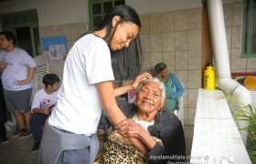
M 182 124 L 176 115 L 161 109 L 165 104 L 165 85 L 157 78 L 146 79 L 139 87 L 135 104 L 120 101 L 119 106 L 129 119 L 117 125 L 95 163 L 185 162 Z M 147 153 L 135 149 L 128 137 L 144 143 Z M 166 158 L 158 159 L 160 156 Z

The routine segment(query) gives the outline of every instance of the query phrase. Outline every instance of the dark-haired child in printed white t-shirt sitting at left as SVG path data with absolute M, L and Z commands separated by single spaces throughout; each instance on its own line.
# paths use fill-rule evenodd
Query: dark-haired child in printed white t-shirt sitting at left
M 59 77 L 56 74 L 47 74 L 43 77 L 43 83 L 45 87 L 39 89 L 33 98 L 32 115 L 29 120 L 30 129 L 35 139 L 33 152 L 38 152 L 43 135 L 42 128 L 52 108 L 57 104 Z

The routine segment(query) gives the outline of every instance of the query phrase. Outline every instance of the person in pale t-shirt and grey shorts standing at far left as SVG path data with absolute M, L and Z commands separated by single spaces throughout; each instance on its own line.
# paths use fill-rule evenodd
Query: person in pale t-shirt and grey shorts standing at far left
M 10 31 L 0 32 L 0 70 L 6 107 L 17 121 L 14 137 L 27 138 L 29 127 L 29 99 L 32 93 L 31 79 L 37 63 L 27 52 L 16 46 L 16 36 Z

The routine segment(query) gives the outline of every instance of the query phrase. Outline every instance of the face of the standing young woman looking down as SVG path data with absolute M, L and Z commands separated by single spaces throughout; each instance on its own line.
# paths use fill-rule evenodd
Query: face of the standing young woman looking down
M 123 22 L 116 24 L 113 22 L 113 26 L 116 26 L 115 33 L 110 41 L 110 47 L 113 51 L 120 50 L 123 47 L 130 45 L 130 42 L 138 35 L 139 26 L 132 22 Z

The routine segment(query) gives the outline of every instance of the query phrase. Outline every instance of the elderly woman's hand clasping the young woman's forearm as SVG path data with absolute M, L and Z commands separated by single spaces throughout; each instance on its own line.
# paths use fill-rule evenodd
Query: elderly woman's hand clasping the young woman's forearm
M 141 138 L 141 134 L 144 131 L 144 128 L 135 123 L 133 119 L 124 119 L 116 126 L 116 128 L 123 138 Z

